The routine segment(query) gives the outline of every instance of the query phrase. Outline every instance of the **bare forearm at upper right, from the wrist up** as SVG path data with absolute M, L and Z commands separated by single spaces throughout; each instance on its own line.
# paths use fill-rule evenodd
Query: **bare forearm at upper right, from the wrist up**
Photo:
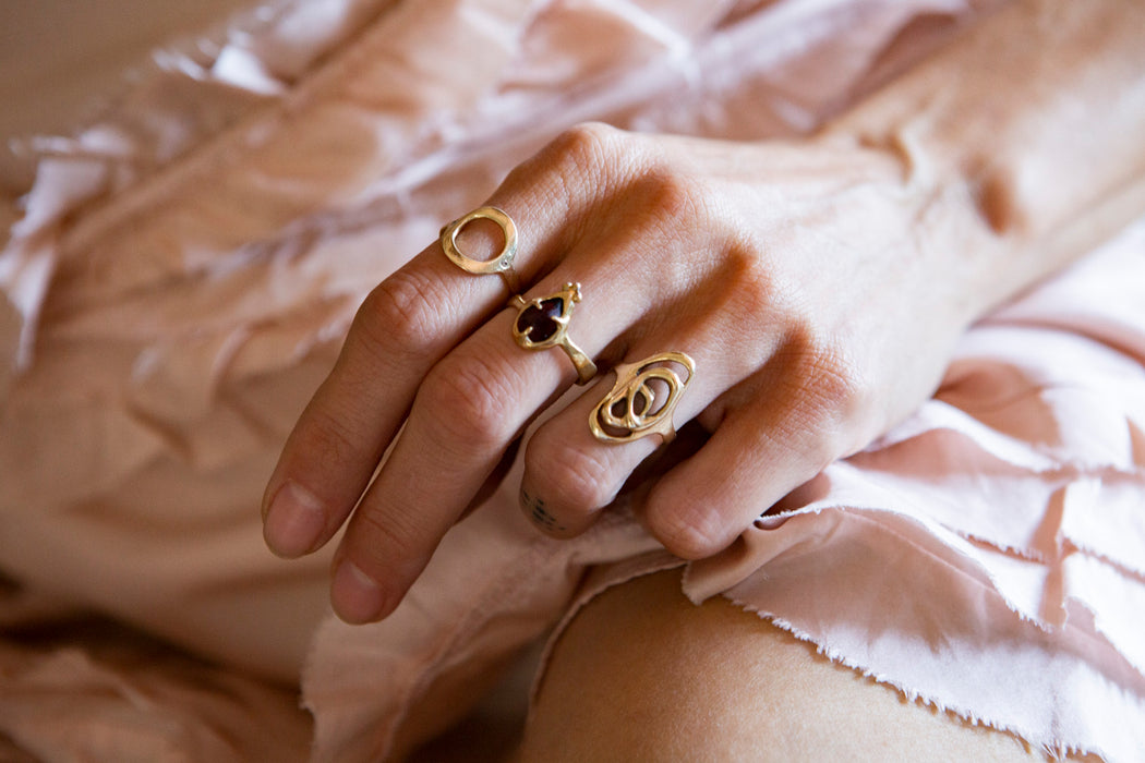
M 995 303 L 1145 212 L 1145 3 L 1017 0 L 824 132 L 970 213 Z

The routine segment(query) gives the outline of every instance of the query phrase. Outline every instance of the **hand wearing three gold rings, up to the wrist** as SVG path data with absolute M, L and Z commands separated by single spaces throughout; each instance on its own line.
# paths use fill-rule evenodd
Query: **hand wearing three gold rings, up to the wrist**
M 582 285 L 569 336 L 601 368 L 523 445 L 527 514 L 543 502 L 543 528 L 566 535 L 593 522 L 658 444 L 593 437 L 608 369 L 686 352 L 696 371 L 676 424 L 694 419 L 710 438 L 656 478 L 641 517 L 685 558 L 724 548 L 917 406 L 988 291 L 962 254 L 980 228 L 965 196 L 907 182 L 899 157 L 838 137 L 741 144 L 585 126 L 490 204 L 516 222 L 526 299 Z M 477 223 L 461 237 L 467 251 L 496 245 Z M 267 541 L 299 556 L 348 519 L 332 583 L 347 621 L 397 605 L 576 381 L 559 349 L 514 343 L 508 296 L 433 244 L 365 300 L 285 445 Z

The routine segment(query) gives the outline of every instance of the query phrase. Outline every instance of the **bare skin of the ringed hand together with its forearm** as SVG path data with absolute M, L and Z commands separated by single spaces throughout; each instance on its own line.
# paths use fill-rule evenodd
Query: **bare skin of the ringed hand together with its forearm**
M 579 283 L 569 335 L 601 368 L 520 444 L 524 515 L 576 534 L 656 451 L 586 426 L 608 369 L 655 352 L 695 359 L 674 420 L 708 432 L 642 486 L 642 522 L 684 558 L 909 414 L 973 320 L 1145 210 L 1143 29 L 1132 0 L 1018 1 L 806 140 L 586 125 L 516 168 L 489 204 L 516 222 L 523 295 Z M 284 447 L 267 542 L 297 557 L 348 523 L 331 589 L 348 622 L 393 611 L 576 380 L 514 343 L 507 296 L 428 246 L 365 300 Z

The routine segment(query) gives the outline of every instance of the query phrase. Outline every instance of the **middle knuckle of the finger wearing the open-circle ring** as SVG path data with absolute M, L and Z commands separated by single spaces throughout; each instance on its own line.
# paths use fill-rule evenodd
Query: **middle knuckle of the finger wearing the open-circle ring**
M 381 281 L 363 301 L 352 334 L 366 349 L 419 356 L 433 347 L 433 337 L 444 333 L 440 325 L 443 295 L 429 278 L 402 269 Z

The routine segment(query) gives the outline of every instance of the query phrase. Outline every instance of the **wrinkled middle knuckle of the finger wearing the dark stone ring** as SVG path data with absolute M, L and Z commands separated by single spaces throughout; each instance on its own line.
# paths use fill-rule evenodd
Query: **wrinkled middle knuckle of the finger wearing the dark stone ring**
M 445 358 L 429 372 L 414 407 L 444 436 L 443 447 L 500 447 L 518 428 L 513 386 L 488 355 Z

